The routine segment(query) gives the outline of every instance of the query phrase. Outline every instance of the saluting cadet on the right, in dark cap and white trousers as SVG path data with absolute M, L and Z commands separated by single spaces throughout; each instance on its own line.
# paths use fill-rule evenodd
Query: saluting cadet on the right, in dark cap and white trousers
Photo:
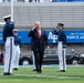
M 65 60 L 65 49 L 66 49 L 66 35 L 64 32 L 64 24 L 57 23 L 56 30 L 54 30 L 54 34 L 57 35 L 57 54 L 59 54 L 59 63 L 60 71 L 66 71 L 66 60 Z

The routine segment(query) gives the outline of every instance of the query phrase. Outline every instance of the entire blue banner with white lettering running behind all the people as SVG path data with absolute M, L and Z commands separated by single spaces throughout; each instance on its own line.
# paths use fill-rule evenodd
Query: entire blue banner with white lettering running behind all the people
M 30 44 L 31 38 L 28 37 L 29 31 L 19 31 L 19 37 L 22 44 Z M 53 31 L 46 31 L 49 43 L 56 43 L 57 35 L 53 34 Z M 65 31 L 67 43 L 84 43 L 84 31 Z M 2 41 L 2 31 L 0 31 L 0 44 Z

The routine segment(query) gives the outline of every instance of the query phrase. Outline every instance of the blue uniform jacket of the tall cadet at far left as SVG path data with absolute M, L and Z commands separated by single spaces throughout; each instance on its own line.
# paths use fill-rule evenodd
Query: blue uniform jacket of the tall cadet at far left
M 6 23 L 3 27 L 3 42 L 6 42 L 8 37 L 13 37 L 12 30 L 14 29 L 14 23 Z

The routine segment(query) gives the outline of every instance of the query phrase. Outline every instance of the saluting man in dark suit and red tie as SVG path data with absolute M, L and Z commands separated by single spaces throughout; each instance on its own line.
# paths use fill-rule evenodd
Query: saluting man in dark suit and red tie
M 41 73 L 45 45 L 49 49 L 46 33 L 44 30 L 41 29 L 40 22 L 35 22 L 33 29 L 29 32 L 28 35 L 32 39 L 31 48 L 35 58 L 36 73 Z

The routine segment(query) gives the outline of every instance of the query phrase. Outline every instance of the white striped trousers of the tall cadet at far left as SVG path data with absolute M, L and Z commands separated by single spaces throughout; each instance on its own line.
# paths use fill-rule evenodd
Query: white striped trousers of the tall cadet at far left
M 14 38 L 9 37 L 6 41 L 6 55 L 4 55 L 4 73 L 12 73 L 13 69 L 13 52 L 14 52 Z

